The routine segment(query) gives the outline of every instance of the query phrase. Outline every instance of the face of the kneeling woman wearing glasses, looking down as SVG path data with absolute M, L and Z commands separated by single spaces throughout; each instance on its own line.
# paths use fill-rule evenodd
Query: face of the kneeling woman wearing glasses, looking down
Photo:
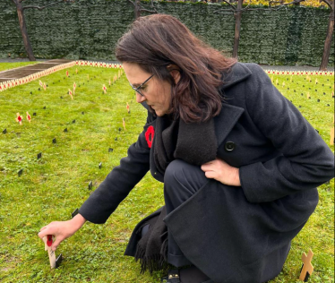
M 128 81 L 135 88 L 138 88 L 152 75 L 152 73 L 144 72 L 139 64 L 124 63 L 123 66 Z M 168 113 L 171 102 L 171 84 L 168 81 L 160 81 L 159 78 L 153 76 L 139 90 L 143 96 L 136 92 L 136 102 L 145 101 L 157 116 L 164 116 Z

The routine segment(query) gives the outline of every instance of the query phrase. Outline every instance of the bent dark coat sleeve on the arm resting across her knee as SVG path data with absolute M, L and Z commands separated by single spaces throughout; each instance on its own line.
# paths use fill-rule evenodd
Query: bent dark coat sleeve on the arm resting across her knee
M 249 202 L 271 202 L 324 184 L 334 176 L 334 155 L 314 127 L 256 64 L 245 94 L 253 123 L 281 155 L 240 167 Z

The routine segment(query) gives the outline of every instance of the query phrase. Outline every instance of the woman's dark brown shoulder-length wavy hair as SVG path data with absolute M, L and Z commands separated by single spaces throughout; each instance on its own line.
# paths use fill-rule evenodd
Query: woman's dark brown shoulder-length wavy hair
M 219 115 L 222 72 L 236 63 L 197 39 L 185 24 L 167 14 L 152 14 L 133 21 L 117 41 L 116 58 L 139 64 L 143 71 L 172 84 L 169 113 L 185 123 L 204 122 Z M 175 84 L 168 65 L 175 64 Z

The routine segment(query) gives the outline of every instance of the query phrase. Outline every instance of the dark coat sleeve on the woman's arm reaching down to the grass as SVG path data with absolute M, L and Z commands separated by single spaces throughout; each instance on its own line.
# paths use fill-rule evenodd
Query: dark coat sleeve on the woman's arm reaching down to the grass
M 105 223 L 116 210 L 120 202 L 130 193 L 135 184 L 141 181 L 150 167 L 150 148 L 145 140 L 145 130 L 151 123 L 149 114 L 147 124 L 137 142 L 127 152 L 127 157 L 120 160 L 99 185 L 99 187 L 82 204 L 79 213 L 92 223 Z

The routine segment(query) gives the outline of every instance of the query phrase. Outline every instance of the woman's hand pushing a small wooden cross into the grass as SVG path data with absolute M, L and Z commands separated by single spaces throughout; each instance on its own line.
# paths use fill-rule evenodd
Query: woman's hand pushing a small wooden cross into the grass
M 57 246 L 64 241 L 64 239 L 73 236 L 73 234 L 82 227 L 85 221 L 86 219 L 84 219 L 81 214 L 77 214 L 73 219 L 68 221 L 51 222 L 39 230 L 39 237 L 42 239 L 47 235 L 55 236 L 56 240 L 52 243 L 51 249 L 56 251 Z

